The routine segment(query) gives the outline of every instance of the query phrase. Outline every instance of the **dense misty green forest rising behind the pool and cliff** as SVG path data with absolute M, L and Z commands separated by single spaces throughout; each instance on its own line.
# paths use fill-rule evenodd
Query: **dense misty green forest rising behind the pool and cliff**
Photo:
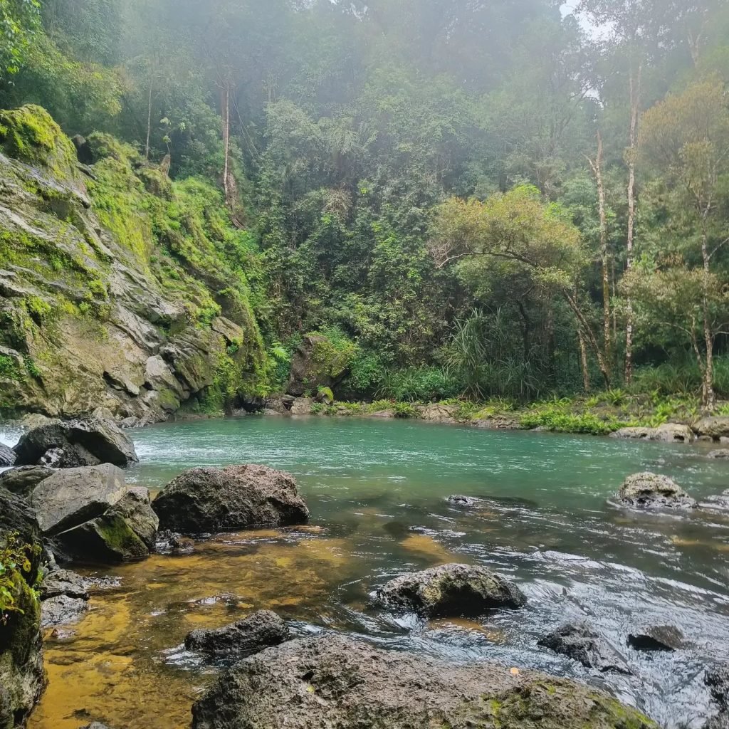
M 263 390 L 324 332 L 347 397 L 729 397 L 725 0 L 0 0 L 0 28 L 0 108 L 227 207 Z

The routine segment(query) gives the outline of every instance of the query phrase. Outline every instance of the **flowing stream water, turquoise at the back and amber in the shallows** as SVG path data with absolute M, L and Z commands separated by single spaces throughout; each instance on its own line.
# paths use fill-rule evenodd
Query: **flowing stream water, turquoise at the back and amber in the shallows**
M 262 463 L 292 472 L 311 508 L 299 529 L 225 534 L 190 555 L 154 555 L 85 574 L 98 590 L 82 622 L 47 636 L 50 686 L 31 729 L 179 729 L 214 679 L 184 651 L 187 631 L 270 608 L 298 634 L 333 629 L 452 660 L 496 660 L 575 677 L 674 727 L 712 713 L 704 668 L 729 655 L 729 516 L 622 510 L 629 473 L 674 477 L 703 499 L 729 486 L 729 463 L 686 446 L 488 432 L 360 418 L 262 418 L 165 424 L 133 432 L 128 480 L 157 490 L 193 466 Z M 449 494 L 480 499 L 458 507 Z M 529 598 L 521 611 L 420 623 L 367 606 L 402 572 L 452 561 L 491 566 Z M 537 647 L 587 618 L 633 676 L 590 674 Z M 626 647 L 631 630 L 675 625 L 674 654 Z

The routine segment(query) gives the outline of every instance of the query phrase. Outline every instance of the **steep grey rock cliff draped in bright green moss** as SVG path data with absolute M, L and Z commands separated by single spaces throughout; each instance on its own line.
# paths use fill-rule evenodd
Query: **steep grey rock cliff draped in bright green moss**
M 0 415 L 151 422 L 257 393 L 256 266 L 203 180 L 71 142 L 38 106 L 0 112 Z

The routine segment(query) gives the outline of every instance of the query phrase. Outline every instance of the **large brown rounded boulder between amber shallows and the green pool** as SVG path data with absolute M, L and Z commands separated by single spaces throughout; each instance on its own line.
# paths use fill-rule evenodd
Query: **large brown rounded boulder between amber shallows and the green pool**
M 309 510 L 294 477 L 266 466 L 193 468 L 152 502 L 162 529 L 183 534 L 304 523 Z

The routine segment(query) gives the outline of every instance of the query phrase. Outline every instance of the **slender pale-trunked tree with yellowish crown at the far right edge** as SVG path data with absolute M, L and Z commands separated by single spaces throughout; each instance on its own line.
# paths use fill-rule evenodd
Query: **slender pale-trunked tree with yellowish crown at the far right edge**
M 671 198 L 695 231 L 687 238 L 688 265 L 691 243 L 698 238 L 701 275 L 687 281 L 696 284 L 700 292 L 703 353 L 699 353 L 694 325 L 686 329 L 691 332 L 703 373 L 702 402 L 710 409 L 715 402 L 714 340 L 725 327 L 725 312 L 720 305 L 724 297 L 722 279 L 713 269 L 717 254 L 729 243 L 722 209 L 729 181 L 729 97 L 724 85 L 710 79 L 668 95 L 644 115 L 640 145 L 642 157 L 674 191 Z M 682 289 L 686 286 L 687 282 Z M 691 306 L 691 311 L 694 308 Z

